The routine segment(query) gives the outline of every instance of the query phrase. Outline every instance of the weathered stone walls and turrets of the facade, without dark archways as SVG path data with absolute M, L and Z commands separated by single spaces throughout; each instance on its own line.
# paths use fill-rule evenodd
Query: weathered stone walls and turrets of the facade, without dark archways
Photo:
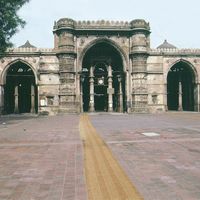
M 82 70 L 89 65 L 92 66 L 97 60 L 109 65 L 109 60 L 111 58 L 114 60 L 115 56 L 119 56 L 122 61 L 122 64 L 119 65 L 122 65 L 120 73 L 123 74 L 124 79 L 122 89 L 124 112 L 168 110 L 168 95 L 170 93 L 168 91 L 168 75 L 175 65 L 179 65 L 179 68 L 184 65 L 185 69 L 191 71 L 191 75 L 188 75 L 191 83 L 188 85 L 194 84 L 192 93 L 184 87 L 183 93 L 185 96 L 191 96 L 192 103 L 190 102 L 189 110 L 200 111 L 200 50 L 168 48 L 166 45 L 151 49 L 150 27 L 149 23 L 144 20 L 114 22 L 106 20 L 75 21 L 62 18 L 55 22 L 53 33 L 54 49 L 22 46 L 8 49 L 7 55 L 0 60 L 1 113 L 4 112 L 6 104 L 4 88 L 7 84 L 7 71 L 13 64 L 24 63 L 33 70 L 35 85 L 38 89 L 38 112 L 43 112 L 46 109 L 46 111 L 52 110 L 50 113 L 56 114 L 62 110 L 82 111 L 83 95 L 88 95 L 87 98 L 90 98 L 89 91 L 92 91 L 89 89 L 89 69 L 84 73 Z M 97 48 L 90 53 L 94 59 L 84 61 L 87 53 L 99 44 L 106 44 L 106 48 L 110 46 L 111 50 L 114 50 L 109 53 L 105 49 L 107 55 L 104 56 L 106 58 L 103 60 L 101 56 L 98 57 L 102 52 L 98 52 Z M 114 73 L 118 71 L 115 70 L 117 65 L 118 63 L 115 62 L 114 66 L 111 66 Z M 119 86 L 116 77 L 117 75 L 112 74 L 112 84 L 115 85 L 113 105 L 118 104 L 117 90 Z M 96 80 L 96 77 L 94 79 Z M 179 81 L 178 79 L 177 77 L 177 81 Z M 82 81 L 84 80 L 88 81 L 88 85 L 83 85 Z M 83 86 L 88 87 L 88 89 L 83 90 Z M 177 101 L 177 94 L 178 91 L 174 101 Z M 73 95 L 73 98 L 69 97 L 70 95 Z M 108 102 L 108 98 L 106 98 L 104 97 L 103 101 Z M 40 102 L 40 100 L 42 101 Z M 53 101 L 53 105 L 57 105 L 56 108 L 48 105 L 48 102 L 51 101 Z M 95 101 L 96 96 L 94 96 L 94 104 Z M 56 109 L 57 111 L 55 111 Z M 115 110 L 120 109 L 116 108 Z

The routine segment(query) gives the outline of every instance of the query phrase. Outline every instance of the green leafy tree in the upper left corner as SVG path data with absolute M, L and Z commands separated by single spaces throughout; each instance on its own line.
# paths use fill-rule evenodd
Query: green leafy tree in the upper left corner
M 24 27 L 25 21 L 17 12 L 29 0 L 0 0 L 0 54 L 12 46 L 10 38 Z

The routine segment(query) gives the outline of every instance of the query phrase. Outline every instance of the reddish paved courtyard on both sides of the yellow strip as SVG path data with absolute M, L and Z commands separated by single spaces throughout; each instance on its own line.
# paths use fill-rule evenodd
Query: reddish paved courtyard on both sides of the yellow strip
M 200 114 L 89 114 L 145 200 L 200 199 Z M 0 118 L 1 200 L 87 199 L 79 115 Z

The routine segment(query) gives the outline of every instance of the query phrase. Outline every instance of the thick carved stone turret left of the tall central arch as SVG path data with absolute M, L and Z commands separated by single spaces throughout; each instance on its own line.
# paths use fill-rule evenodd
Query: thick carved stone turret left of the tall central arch
M 60 88 L 59 111 L 62 113 L 79 112 L 76 90 L 76 38 L 75 21 L 62 18 L 54 24 L 55 51 L 59 60 Z

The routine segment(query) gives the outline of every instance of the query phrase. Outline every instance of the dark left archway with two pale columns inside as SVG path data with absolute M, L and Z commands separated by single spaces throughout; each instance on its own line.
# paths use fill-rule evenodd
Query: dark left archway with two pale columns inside
M 38 108 L 37 87 L 33 70 L 18 61 L 6 73 L 4 86 L 5 113 L 36 113 Z

